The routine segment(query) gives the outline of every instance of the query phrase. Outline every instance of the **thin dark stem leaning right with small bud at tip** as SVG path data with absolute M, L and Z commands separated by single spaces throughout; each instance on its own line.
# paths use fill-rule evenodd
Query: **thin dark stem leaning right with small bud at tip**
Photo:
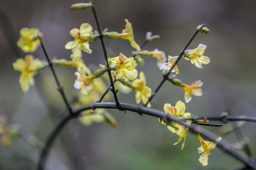
M 201 26 L 201 28 L 203 28 L 205 26 L 205 24 L 203 24 Z M 201 29 L 200 28 L 200 29 Z M 150 96 L 150 98 L 148 99 L 147 103 L 144 106 L 147 106 L 147 104 L 152 100 L 152 98 L 157 94 L 158 90 L 161 88 L 161 86 L 163 85 L 163 83 L 168 80 L 168 77 L 173 69 L 173 67 L 179 62 L 179 60 L 181 59 L 182 55 L 184 54 L 184 51 L 187 49 L 188 45 L 192 42 L 192 40 L 196 37 L 197 33 L 200 31 L 200 29 L 197 29 L 197 31 L 195 32 L 195 34 L 191 37 L 191 39 L 189 40 L 189 42 L 187 43 L 187 45 L 183 48 L 183 50 L 181 50 L 181 53 L 178 57 L 178 59 L 176 60 L 176 62 L 173 64 L 172 68 L 170 69 L 170 71 L 168 72 L 168 74 L 166 74 L 163 77 L 163 80 L 161 81 L 161 83 L 157 86 L 157 88 L 155 89 L 154 92 L 152 92 L 152 95 Z

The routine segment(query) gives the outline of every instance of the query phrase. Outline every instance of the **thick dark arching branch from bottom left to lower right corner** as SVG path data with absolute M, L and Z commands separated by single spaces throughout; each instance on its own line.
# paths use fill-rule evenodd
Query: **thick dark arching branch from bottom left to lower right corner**
M 154 116 L 154 117 L 158 117 L 158 118 L 165 118 L 168 121 L 178 122 L 181 125 L 188 127 L 190 130 L 192 130 L 196 133 L 200 133 L 201 136 L 209 139 L 212 142 L 215 142 L 216 139 L 218 138 L 218 136 L 216 134 L 214 134 L 208 130 L 201 129 L 201 128 L 199 129 L 195 125 L 187 125 L 186 123 L 184 123 L 183 119 L 178 119 L 178 118 L 171 117 L 167 114 L 163 114 L 163 111 L 161 111 L 161 110 L 148 108 L 148 107 L 145 107 L 142 105 L 137 105 L 137 104 L 120 103 L 120 105 L 117 107 L 116 103 L 113 103 L 113 102 L 92 103 L 89 105 L 82 106 L 82 107 L 78 108 L 77 110 L 74 110 L 73 115 L 67 115 L 62 120 L 59 121 L 59 123 L 56 125 L 53 132 L 51 133 L 49 139 L 47 140 L 47 144 L 41 154 L 39 167 L 41 167 L 41 168 L 43 167 L 44 160 L 47 157 L 47 153 L 48 153 L 52 143 L 54 142 L 54 139 L 56 138 L 57 134 L 64 127 L 64 125 L 66 125 L 66 123 L 69 122 L 69 120 L 72 119 L 73 117 L 78 116 L 82 111 L 89 110 L 89 109 L 97 109 L 97 108 L 118 109 L 118 110 L 122 110 L 122 111 L 128 110 L 128 111 L 132 111 L 135 113 L 143 113 L 145 115 L 150 115 L 150 116 Z M 227 154 L 230 154 L 232 157 L 243 162 L 245 165 L 251 167 L 252 169 L 256 169 L 256 161 L 253 158 L 246 155 L 242 151 L 235 150 L 234 148 L 231 147 L 231 144 L 229 142 L 227 142 L 226 140 L 221 139 L 221 141 L 218 143 L 217 147 L 223 149 L 224 152 L 226 152 Z

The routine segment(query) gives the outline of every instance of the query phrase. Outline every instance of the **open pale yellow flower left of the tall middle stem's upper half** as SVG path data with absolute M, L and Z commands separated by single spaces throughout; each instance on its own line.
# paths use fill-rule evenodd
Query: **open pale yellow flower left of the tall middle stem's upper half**
M 75 38 L 74 41 L 69 41 L 66 43 L 66 49 L 73 49 L 72 58 L 81 56 L 81 50 L 89 54 L 92 53 L 89 45 L 88 36 L 93 35 L 93 28 L 88 23 L 83 23 L 80 28 L 73 28 L 70 35 Z

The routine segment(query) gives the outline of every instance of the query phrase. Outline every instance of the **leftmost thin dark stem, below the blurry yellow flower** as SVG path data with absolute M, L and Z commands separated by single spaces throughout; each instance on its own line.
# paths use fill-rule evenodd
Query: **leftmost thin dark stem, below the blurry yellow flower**
M 64 102 L 65 102 L 65 105 L 66 105 L 67 109 L 69 110 L 69 114 L 73 114 L 72 108 L 70 107 L 69 102 L 68 102 L 68 99 L 66 98 L 66 95 L 65 95 L 65 93 L 64 93 L 64 88 L 63 88 L 63 86 L 60 85 L 59 80 L 58 80 L 58 78 L 57 78 L 57 75 L 56 75 L 56 73 L 55 73 L 55 70 L 53 69 L 53 64 L 52 64 L 52 62 L 50 61 L 50 58 L 49 58 L 48 53 L 46 52 L 46 49 L 44 48 L 43 41 L 42 41 L 41 37 L 38 37 L 38 38 L 39 38 L 39 40 L 40 40 L 42 49 L 43 49 L 43 51 L 44 51 L 44 55 L 45 55 L 45 57 L 46 57 L 46 59 L 47 59 L 47 61 L 48 61 L 48 63 L 49 63 L 49 66 L 50 66 L 50 68 L 51 68 L 51 71 L 52 71 L 52 73 L 53 73 L 53 77 L 54 77 L 54 79 L 55 79 L 55 81 L 56 81 L 56 84 L 57 84 L 57 86 L 58 86 L 58 91 L 60 92 L 60 94 L 61 94 L 61 96 L 62 96 L 62 98 L 63 98 L 63 100 L 64 100 Z

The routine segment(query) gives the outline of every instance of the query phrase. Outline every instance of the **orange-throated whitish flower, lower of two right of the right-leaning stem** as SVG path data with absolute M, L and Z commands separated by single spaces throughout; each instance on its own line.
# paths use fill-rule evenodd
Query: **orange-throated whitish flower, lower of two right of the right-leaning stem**
M 188 103 L 192 99 L 191 94 L 195 96 L 201 96 L 203 94 L 203 91 L 201 89 L 202 85 L 203 82 L 201 82 L 200 80 L 192 82 L 190 86 L 183 83 L 181 84 L 181 88 L 185 90 L 184 96 L 186 103 Z

